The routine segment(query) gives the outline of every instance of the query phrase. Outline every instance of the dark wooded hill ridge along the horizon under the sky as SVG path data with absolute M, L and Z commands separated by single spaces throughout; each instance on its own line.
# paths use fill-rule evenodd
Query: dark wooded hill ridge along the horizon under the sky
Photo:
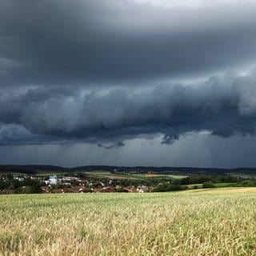
M 110 172 L 122 173 L 158 173 L 158 174 L 256 174 L 256 168 L 197 168 L 197 167 L 154 167 L 154 166 L 78 166 L 78 167 L 62 167 L 62 166 L 46 166 L 46 165 L 0 165 L 0 173 L 22 173 L 36 174 L 38 172 L 82 172 L 106 170 Z

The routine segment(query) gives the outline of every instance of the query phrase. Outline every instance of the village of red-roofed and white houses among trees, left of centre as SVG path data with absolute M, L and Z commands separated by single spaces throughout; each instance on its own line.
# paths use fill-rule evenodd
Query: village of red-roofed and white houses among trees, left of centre
M 129 182 L 130 183 L 130 182 Z M 138 183 L 138 182 L 137 182 Z M 34 175 L 2 175 L 0 177 L 0 194 L 65 194 L 65 193 L 145 193 L 154 186 L 129 184 L 122 180 L 79 178 L 57 175 L 37 177 Z

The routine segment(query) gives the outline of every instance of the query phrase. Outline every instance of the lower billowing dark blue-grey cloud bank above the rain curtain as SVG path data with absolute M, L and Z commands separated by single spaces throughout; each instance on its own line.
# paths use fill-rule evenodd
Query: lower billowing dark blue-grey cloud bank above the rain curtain
M 198 85 L 162 85 L 150 89 L 79 90 L 61 88 L 5 90 L 0 96 L 2 127 L 14 130 L 3 144 L 86 141 L 123 146 L 122 141 L 164 134 L 170 144 L 187 132 L 209 130 L 220 137 L 255 134 L 256 73 L 213 77 Z M 18 128 L 22 127 L 22 128 Z M 15 129 L 14 129 L 15 128 Z M 23 137 L 19 134 L 25 134 Z M 33 137 L 34 136 L 34 137 Z M 40 139 L 38 139 L 40 138 Z M 104 144 L 107 143 L 107 144 Z

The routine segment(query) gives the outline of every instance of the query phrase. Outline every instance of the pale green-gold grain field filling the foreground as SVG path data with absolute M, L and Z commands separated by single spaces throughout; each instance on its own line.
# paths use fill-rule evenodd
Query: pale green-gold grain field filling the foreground
M 0 255 L 256 255 L 254 188 L 0 197 Z

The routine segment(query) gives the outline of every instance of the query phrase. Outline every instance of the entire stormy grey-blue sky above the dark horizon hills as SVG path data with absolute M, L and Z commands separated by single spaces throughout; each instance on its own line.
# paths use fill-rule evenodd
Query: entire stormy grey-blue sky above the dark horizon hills
M 256 167 L 254 0 L 1 0 L 0 164 Z

